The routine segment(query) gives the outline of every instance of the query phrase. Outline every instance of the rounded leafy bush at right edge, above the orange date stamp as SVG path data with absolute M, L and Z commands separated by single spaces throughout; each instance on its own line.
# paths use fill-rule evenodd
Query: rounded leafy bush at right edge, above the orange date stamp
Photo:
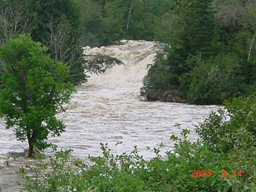
M 212 150 L 228 152 L 232 147 L 240 145 L 243 134 L 248 134 L 255 141 L 255 99 L 233 99 L 225 102 L 227 108 L 218 113 L 212 112 L 204 124 L 197 127 L 196 132 L 203 141 L 210 143 Z M 244 140 L 246 137 L 244 136 Z

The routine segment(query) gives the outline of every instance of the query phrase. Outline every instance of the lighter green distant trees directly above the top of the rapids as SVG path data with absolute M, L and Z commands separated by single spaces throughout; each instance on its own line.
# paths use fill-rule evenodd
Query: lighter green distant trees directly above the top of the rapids
M 116 40 L 165 40 L 163 22 L 175 1 L 76 0 L 81 8 L 82 45 L 100 46 Z

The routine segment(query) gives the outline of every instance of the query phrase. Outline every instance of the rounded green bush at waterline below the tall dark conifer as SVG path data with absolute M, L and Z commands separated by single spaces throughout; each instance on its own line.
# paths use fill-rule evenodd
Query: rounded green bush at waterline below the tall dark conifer
M 187 61 L 189 62 L 189 61 Z M 196 104 L 221 104 L 223 100 L 245 95 L 236 56 L 224 54 L 210 60 L 193 59 L 191 72 L 182 76 L 185 97 Z M 186 77 L 187 76 L 187 77 Z

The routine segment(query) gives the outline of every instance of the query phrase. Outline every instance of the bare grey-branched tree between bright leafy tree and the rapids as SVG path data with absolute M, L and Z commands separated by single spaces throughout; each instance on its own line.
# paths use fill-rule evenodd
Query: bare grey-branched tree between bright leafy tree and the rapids
M 53 21 L 51 18 L 47 26 L 49 27 L 49 38 L 42 39 L 42 44 L 48 47 L 47 53 L 49 52 L 54 60 L 67 63 L 70 69 L 68 82 L 83 83 L 86 80 L 85 60 L 76 31 L 68 24 L 67 20 L 55 19 Z

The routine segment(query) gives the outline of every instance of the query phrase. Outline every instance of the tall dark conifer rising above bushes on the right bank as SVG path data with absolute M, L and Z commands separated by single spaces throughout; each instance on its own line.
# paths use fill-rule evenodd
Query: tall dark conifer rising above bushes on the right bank
M 214 51 L 213 42 L 218 33 L 211 4 L 212 0 L 184 0 L 174 10 L 180 19 L 171 31 L 172 49 L 166 63 L 178 76 L 194 67 L 193 63 L 186 62 L 188 58 L 193 55 L 208 58 Z

